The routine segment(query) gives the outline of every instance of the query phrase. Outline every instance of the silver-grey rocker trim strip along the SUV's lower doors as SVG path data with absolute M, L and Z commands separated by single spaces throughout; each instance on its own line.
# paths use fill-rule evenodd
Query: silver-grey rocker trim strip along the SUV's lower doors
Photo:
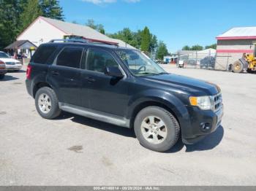
M 81 106 L 74 106 L 72 104 L 64 104 L 61 102 L 59 102 L 59 108 L 65 112 L 70 112 L 72 114 L 78 114 L 84 117 L 89 117 L 94 120 L 108 122 L 113 125 L 129 128 L 129 120 L 127 120 L 124 117 L 118 117 L 113 114 L 107 114 L 105 112 L 97 112 L 93 109 L 87 109 Z

